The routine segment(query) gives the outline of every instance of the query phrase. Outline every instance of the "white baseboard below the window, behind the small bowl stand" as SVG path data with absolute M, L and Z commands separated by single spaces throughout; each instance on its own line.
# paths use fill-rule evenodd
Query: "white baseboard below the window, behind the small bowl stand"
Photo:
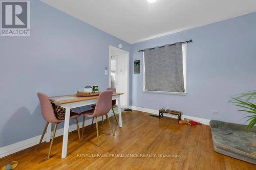
M 151 113 L 151 114 L 156 114 L 159 115 L 159 110 L 153 110 L 153 109 L 147 109 L 147 108 L 143 108 L 143 107 L 137 107 L 137 106 L 130 106 L 130 109 L 132 110 L 137 110 L 137 111 L 141 111 L 141 112 L 146 112 L 146 113 Z M 164 116 L 166 117 L 172 117 L 172 118 L 176 118 L 178 119 L 178 116 L 174 116 L 172 114 L 164 114 Z M 200 118 L 200 117 L 194 117 L 194 116 L 187 116 L 187 115 L 181 115 L 181 118 L 184 119 L 184 117 L 189 118 L 189 119 L 193 119 L 196 122 L 200 122 L 204 125 L 209 125 L 210 120 L 206 119 L 206 118 Z

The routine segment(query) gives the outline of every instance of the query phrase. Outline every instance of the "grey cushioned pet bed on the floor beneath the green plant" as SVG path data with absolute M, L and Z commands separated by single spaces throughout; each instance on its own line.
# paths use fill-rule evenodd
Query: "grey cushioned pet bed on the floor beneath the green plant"
M 210 120 L 214 150 L 221 154 L 256 164 L 256 127 Z

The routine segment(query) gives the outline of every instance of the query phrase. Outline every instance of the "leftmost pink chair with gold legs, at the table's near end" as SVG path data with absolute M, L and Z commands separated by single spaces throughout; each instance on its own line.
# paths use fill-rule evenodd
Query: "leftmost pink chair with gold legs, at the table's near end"
M 49 100 L 49 98 L 48 98 L 48 96 L 46 94 L 44 94 L 44 93 L 37 93 L 37 96 L 38 96 L 38 99 L 39 99 L 40 105 L 41 105 L 42 117 L 44 117 L 44 119 L 47 122 L 46 126 L 45 126 L 45 129 L 44 129 L 44 132 L 42 132 L 42 136 L 41 136 L 41 139 L 39 141 L 37 149 L 39 149 L 39 147 L 41 145 L 42 138 L 44 138 L 44 136 L 45 136 L 45 133 L 46 133 L 46 130 L 47 130 L 47 127 L 48 127 L 49 123 L 55 123 L 53 134 L 52 134 L 50 150 L 49 150 L 49 154 L 48 154 L 48 157 L 47 157 L 47 159 L 49 159 L 50 158 L 50 154 L 51 154 L 51 150 L 52 150 L 53 140 L 54 140 L 55 133 L 56 133 L 56 130 L 57 130 L 57 125 L 59 123 L 61 123 L 61 122 L 64 122 L 65 120 L 59 120 L 59 119 L 56 118 L 56 116 L 54 114 L 54 110 L 53 110 L 52 104 L 51 104 L 51 102 L 50 102 L 50 100 Z M 73 118 L 76 119 L 77 132 L 78 132 L 79 140 L 81 141 L 79 125 L 78 125 L 78 120 L 77 120 L 77 117 L 79 117 L 79 116 L 80 116 L 80 114 L 77 114 L 77 113 L 74 113 L 74 112 L 70 113 L 70 119 L 73 119 Z

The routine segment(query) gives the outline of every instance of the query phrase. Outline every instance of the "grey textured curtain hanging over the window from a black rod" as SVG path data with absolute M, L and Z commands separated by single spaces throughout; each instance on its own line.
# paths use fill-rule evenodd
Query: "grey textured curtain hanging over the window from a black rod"
M 146 49 L 145 90 L 184 92 L 182 44 Z

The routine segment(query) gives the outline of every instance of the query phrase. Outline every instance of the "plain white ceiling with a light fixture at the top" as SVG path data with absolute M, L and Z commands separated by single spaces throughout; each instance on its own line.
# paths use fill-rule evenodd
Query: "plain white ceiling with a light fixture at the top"
M 41 0 L 135 43 L 256 11 L 255 0 Z

